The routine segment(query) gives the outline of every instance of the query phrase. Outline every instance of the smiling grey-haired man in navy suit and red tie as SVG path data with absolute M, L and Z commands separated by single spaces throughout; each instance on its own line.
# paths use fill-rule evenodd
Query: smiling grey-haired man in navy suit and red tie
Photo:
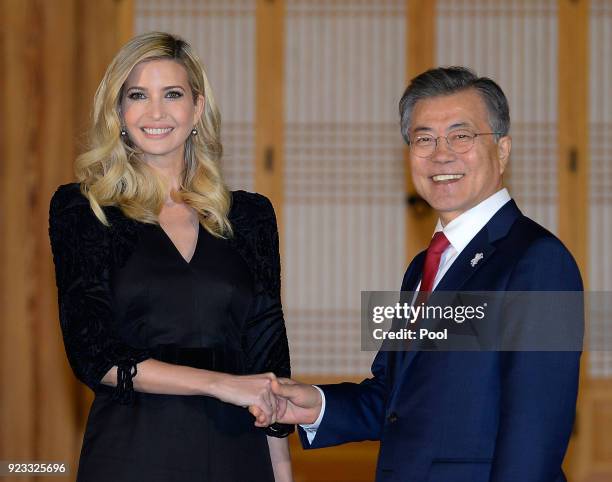
M 439 215 L 402 291 L 582 291 L 571 254 L 503 188 L 510 117 L 495 82 L 429 70 L 400 114 L 414 185 Z M 581 330 L 582 314 L 574 322 Z M 560 482 L 579 360 L 578 350 L 381 350 L 360 384 L 272 389 L 279 420 L 303 424 L 305 448 L 380 440 L 378 481 Z

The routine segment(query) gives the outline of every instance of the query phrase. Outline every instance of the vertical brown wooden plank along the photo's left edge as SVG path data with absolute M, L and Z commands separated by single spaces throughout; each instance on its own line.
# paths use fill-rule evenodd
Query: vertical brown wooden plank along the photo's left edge
M 2 172 L 0 179 L 0 209 L 2 209 L 2 251 L 0 273 L 3 304 L 0 343 L 2 404 L 0 406 L 0 450 L 3 459 L 31 456 L 34 452 L 34 421 L 29 416 L 33 400 L 33 340 L 28 300 L 27 272 L 29 245 L 27 218 L 28 190 L 31 178 L 26 164 L 32 156 L 29 141 L 33 140 L 33 126 L 29 109 L 34 107 L 32 95 L 36 51 L 26 51 L 21 45 L 31 42 L 31 25 L 36 21 L 33 2 L 14 2 L 2 5 L 4 51 L 2 52 L 2 101 L 4 135 Z M 20 92 L 20 95 L 14 95 Z M 13 94 L 13 95 L 8 95 Z M 10 131 L 9 131 L 10 129 Z M 25 154 L 25 155 L 24 155 Z M 10 387 L 10 389 L 7 389 Z

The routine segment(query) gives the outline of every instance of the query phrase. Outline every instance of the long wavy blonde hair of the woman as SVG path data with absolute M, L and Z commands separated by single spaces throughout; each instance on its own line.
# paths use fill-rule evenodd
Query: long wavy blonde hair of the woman
M 88 150 L 74 165 L 81 192 L 89 199 L 95 215 L 109 222 L 102 206 L 118 206 L 135 220 L 158 224 L 158 214 L 167 188 L 142 160 L 139 150 L 121 136 L 120 104 L 123 87 L 132 69 L 140 62 L 170 59 L 187 71 L 194 102 L 204 97 L 204 109 L 196 125 L 197 135 L 185 141 L 185 166 L 178 192 L 172 196 L 196 210 L 200 223 L 211 234 L 231 234 L 228 213 L 230 193 L 223 182 L 219 160 L 221 117 L 202 63 L 191 46 L 181 38 L 150 32 L 125 44 L 108 66 L 94 97 Z

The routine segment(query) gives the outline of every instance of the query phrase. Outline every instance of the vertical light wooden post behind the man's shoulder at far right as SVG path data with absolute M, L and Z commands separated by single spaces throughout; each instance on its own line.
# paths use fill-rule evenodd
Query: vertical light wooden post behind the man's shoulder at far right
M 559 237 L 576 258 L 587 288 L 589 1 L 559 0 L 558 9 Z M 597 382 L 588 376 L 588 356 L 582 357 L 580 372 L 576 430 L 564 461 L 564 469 L 574 480 L 593 474 L 598 433 L 598 422 L 592 416 Z M 606 418 L 599 423 L 609 427 Z

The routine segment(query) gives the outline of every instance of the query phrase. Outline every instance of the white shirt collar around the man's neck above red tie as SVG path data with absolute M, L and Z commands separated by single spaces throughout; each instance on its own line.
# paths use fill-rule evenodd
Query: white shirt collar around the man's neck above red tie
M 510 199 L 508 190 L 500 189 L 480 204 L 457 216 L 446 226 L 442 226 L 442 222 L 438 219 L 434 232 L 443 231 L 452 247 L 460 253 Z

